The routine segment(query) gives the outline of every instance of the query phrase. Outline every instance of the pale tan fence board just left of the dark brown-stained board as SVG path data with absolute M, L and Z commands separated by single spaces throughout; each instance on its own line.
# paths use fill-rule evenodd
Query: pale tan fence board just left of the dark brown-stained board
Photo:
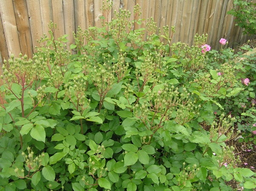
M 12 1 L 0 1 L 0 11 L 9 54 L 18 55 L 20 53 L 20 40 Z

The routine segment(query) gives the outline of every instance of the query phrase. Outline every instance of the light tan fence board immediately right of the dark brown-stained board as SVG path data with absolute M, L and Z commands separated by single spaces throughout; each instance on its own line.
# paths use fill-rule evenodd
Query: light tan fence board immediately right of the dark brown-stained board
M 31 30 L 31 38 L 33 43 L 33 50 L 38 46 L 37 39 L 43 36 L 42 17 L 40 13 L 39 0 L 27 0 L 28 14 L 29 14 L 29 26 Z M 47 26 L 48 28 L 48 26 Z

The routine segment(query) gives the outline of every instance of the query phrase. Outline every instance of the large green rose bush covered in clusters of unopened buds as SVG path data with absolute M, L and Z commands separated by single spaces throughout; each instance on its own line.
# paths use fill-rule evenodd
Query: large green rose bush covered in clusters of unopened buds
M 226 145 L 234 122 L 251 132 L 256 121 L 251 60 L 209 51 L 207 35 L 172 44 L 152 19 L 133 30 L 134 14 L 79 29 L 76 54 L 51 23 L 33 59 L 5 62 L 0 190 L 231 191 L 233 179 L 256 188 Z

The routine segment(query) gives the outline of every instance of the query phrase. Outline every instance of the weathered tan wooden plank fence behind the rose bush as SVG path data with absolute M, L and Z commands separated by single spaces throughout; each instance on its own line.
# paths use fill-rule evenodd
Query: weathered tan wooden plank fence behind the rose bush
M 37 39 L 48 34 L 48 23 L 58 25 L 55 36 L 69 34 L 69 45 L 74 43 L 72 31 L 78 26 L 100 26 L 104 0 L 0 0 L 0 53 L 2 60 L 10 53 L 20 52 L 32 57 Z M 254 0 L 256 1 L 256 0 Z M 153 17 L 158 27 L 175 26 L 173 42 L 191 45 L 196 33 L 208 34 L 207 43 L 219 48 L 219 39 L 225 38 L 229 46 L 241 44 L 252 38 L 242 34 L 234 18 L 227 15 L 233 0 L 113 0 L 113 10 L 119 8 L 133 12 L 141 6 L 141 18 Z M 131 14 L 133 18 L 134 14 Z M 145 23 L 135 25 L 144 27 Z M 255 37 L 255 36 L 253 36 Z M 1 60 L 1 59 L 0 59 Z

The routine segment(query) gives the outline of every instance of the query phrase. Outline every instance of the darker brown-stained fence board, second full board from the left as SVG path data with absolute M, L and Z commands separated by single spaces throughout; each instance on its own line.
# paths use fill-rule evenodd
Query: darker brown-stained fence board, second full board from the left
M 33 56 L 33 45 L 29 28 L 29 15 L 26 0 L 13 0 L 17 30 L 20 39 L 20 51 L 31 58 Z

